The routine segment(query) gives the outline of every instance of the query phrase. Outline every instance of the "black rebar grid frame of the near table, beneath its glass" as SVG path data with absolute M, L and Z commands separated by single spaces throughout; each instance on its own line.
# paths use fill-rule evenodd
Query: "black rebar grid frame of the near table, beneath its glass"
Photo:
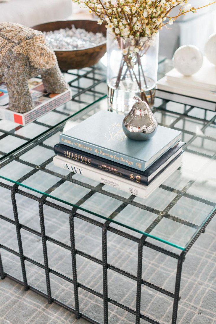
M 157 112 L 160 112 L 161 118 L 162 120 L 159 120 L 159 123 L 162 123 L 163 125 L 166 125 L 166 117 L 169 114 L 172 115 L 176 115 L 177 119 L 175 119 L 175 122 L 173 122 L 173 124 L 171 125 L 171 127 L 174 127 L 176 129 L 180 129 L 179 127 L 176 126 L 176 123 L 178 121 L 183 121 L 183 127 L 180 129 L 181 131 L 183 131 L 183 136 L 187 136 L 190 135 L 190 139 L 187 142 L 186 145 L 186 151 L 188 152 L 192 152 L 193 154 L 196 154 L 198 156 L 205 156 L 209 159 L 215 159 L 216 154 L 207 154 L 207 153 L 203 153 L 202 151 L 199 150 L 199 148 L 204 148 L 205 147 L 205 140 L 209 140 L 212 141 L 212 149 L 215 147 L 215 138 L 209 135 L 205 135 L 205 130 L 208 127 L 215 127 L 215 115 L 211 118 L 207 118 L 207 114 L 208 112 L 204 113 L 204 118 L 198 118 L 196 116 L 190 116 L 189 113 L 193 111 L 193 107 L 184 107 L 184 111 L 180 112 L 176 112 L 175 111 L 175 105 L 170 103 L 163 101 L 162 104 L 159 104 L 158 107 L 154 108 L 154 112 L 155 114 Z M 94 106 L 93 106 L 94 107 Z M 169 109 L 170 107 L 170 109 Z M 91 111 L 91 108 L 88 108 L 89 111 Z M 94 111 L 94 108 L 93 108 Z M 185 122 L 186 119 L 189 119 L 190 121 L 194 122 L 194 123 L 202 123 L 203 127 L 201 128 L 201 130 L 203 131 L 202 133 L 196 133 L 196 132 L 192 132 L 191 130 L 187 130 L 185 129 Z M 126 311 L 128 311 L 129 313 L 134 315 L 134 322 L 135 323 L 139 323 L 140 322 L 140 318 L 146 320 L 149 323 L 154 323 L 154 324 L 159 324 L 159 321 L 150 318 L 148 316 L 146 316 L 145 314 L 141 313 L 140 311 L 140 306 L 141 306 L 141 287 L 142 285 L 145 285 L 151 289 L 154 289 L 158 292 L 161 292 L 162 294 L 165 294 L 171 298 L 173 298 L 173 316 L 172 316 L 172 324 L 176 323 L 176 318 L 177 318 L 177 308 L 178 308 L 178 301 L 179 301 L 179 290 L 180 290 L 180 279 L 181 279 L 181 269 L 182 269 L 182 262 L 185 259 L 185 256 L 188 252 L 188 250 L 192 247 L 192 245 L 194 244 L 194 242 L 197 240 L 197 238 L 199 237 L 199 235 L 201 233 L 204 232 L 205 227 L 208 225 L 208 223 L 210 222 L 210 220 L 213 218 L 213 216 L 215 215 L 215 203 L 201 198 L 199 196 L 195 196 L 192 194 L 189 194 L 187 191 L 188 189 L 193 185 L 194 180 L 191 179 L 190 181 L 188 181 L 188 183 L 184 186 L 184 188 L 182 188 L 182 190 L 177 190 L 176 188 L 172 188 L 166 185 L 161 185 L 160 188 L 165 190 L 165 191 L 170 191 L 170 192 L 174 192 L 176 194 L 175 198 L 172 199 L 170 201 L 170 203 L 166 206 L 166 208 L 162 211 L 157 210 L 151 206 L 146 206 L 142 203 L 137 203 L 134 202 L 134 198 L 135 196 L 130 196 L 129 198 L 125 198 L 123 196 L 114 194 L 112 192 L 103 190 L 104 185 L 103 184 L 98 184 L 96 187 L 90 185 L 90 184 L 86 184 L 82 181 L 78 181 L 76 179 L 73 179 L 73 174 L 70 174 L 69 176 L 65 177 L 62 174 L 57 174 L 56 172 L 53 172 L 51 170 L 49 170 L 48 168 L 46 168 L 46 166 L 51 162 L 52 160 L 52 156 L 50 158 L 48 158 L 46 161 L 43 161 L 43 163 L 41 163 L 39 166 L 34 165 L 33 163 L 30 163 L 28 161 L 26 161 L 25 159 L 22 158 L 22 155 L 25 154 L 26 152 L 28 152 L 30 149 L 34 148 L 35 146 L 40 146 L 40 147 L 44 147 L 48 150 L 52 150 L 53 151 L 53 147 L 51 145 L 47 145 L 44 144 L 43 142 L 46 141 L 47 139 L 49 139 L 51 136 L 53 136 L 54 134 L 58 133 L 59 131 L 63 130 L 63 126 L 64 123 L 55 127 L 53 130 L 51 130 L 49 133 L 47 133 L 46 135 L 44 135 L 43 137 L 39 138 L 37 141 L 32 141 L 31 144 L 27 145 L 26 147 L 24 147 L 23 149 L 21 149 L 20 151 L 18 151 L 17 153 L 15 153 L 14 155 L 9 156 L 8 159 L 2 161 L 2 164 L 0 165 L 0 169 L 4 168 L 6 165 L 12 163 L 13 161 L 18 161 L 21 164 L 24 165 L 28 165 L 29 167 L 32 167 L 33 169 L 31 171 L 29 171 L 28 173 L 22 175 L 22 177 L 20 179 L 17 179 L 17 182 L 22 183 L 23 181 L 25 181 L 26 179 L 28 179 L 29 177 L 31 177 L 33 174 L 36 174 L 39 170 L 44 172 L 44 173 L 48 173 L 51 175 L 55 175 L 58 176 L 59 181 L 56 182 L 54 185 L 52 185 L 49 189 L 46 190 L 45 195 L 42 195 L 41 197 L 38 197 L 37 195 L 34 194 L 34 191 L 32 192 L 26 192 L 23 188 L 21 188 L 21 186 L 19 187 L 17 184 L 14 185 L 10 185 L 4 182 L 0 183 L 0 186 L 5 188 L 6 190 L 10 190 L 11 191 L 11 199 L 12 199 L 12 205 L 13 205 L 13 212 L 14 212 L 14 220 L 11 220 L 10 218 L 8 218 L 6 215 L 0 215 L 0 218 L 6 222 L 10 222 L 11 224 L 14 224 L 16 226 L 16 232 L 17 232 L 17 241 L 18 241 L 18 251 L 15 251 L 13 249 L 11 249 L 10 247 L 6 246 L 6 245 L 1 245 L 0 244 L 0 248 L 4 249 L 14 255 L 17 255 L 20 258 L 20 262 L 21 262 L 21 269 L 22 269 L 22 276 L 23 276 L 23 281 L 20 282 L 20 280 L 14 278 L 13 276 L 11 276 L 9 273 L 5 273 L 4 272 L 4 264 L 2 264 L 1 258 L 0 258 L 0 272 L 1 272 L 1 278 L 3 279 L 5 276 L 8 276 L 10 278 L 12 278 L 13 280 L 20 282 L 21 284 L 24 285 L 25 289 L 31 289 L 37 293 L 39 293 L 40 295 L 43 295 L 45 297 L 47 297 L 48 302 L 55 302 L 58 305 L 61 305 L 63 307 L 65 307 L 68 310 L 71 310 L 72 312 L 74 312 L 76 314 L 76 318 L 86 318 L 87 320 L 89 320 L 92 323 L 98 323 L 97 320 L 94 320 L 93 318 L 90 318 L 88 315 L 83 314 L 82 312 L 80 312 L 79 310 L 79 289 L 84 289 L 85 291 L 88 291 L 89 293 L 96 295 L 100 298 L 103 299 L 103 306 L 104 306 L 104 323 L 108 323 L 108 305 L 113 304 L 117 307 L 120 307 Z M 170 124 L 169 124 L 170 127 Z M 199 148 L 196 149 L 196 145 L 193 146 L 193 148 L 190 148 L 190 145 L 197 139 L 197 138 L 201 138 L 202 143 L 200 145 Z M 183 137 L 184 139 L 184 137 Z M 1 172 L 1 171 L 0 171 Z M 1 174 L 1 173 L 0 173 Z M 89 189 L 89 191 L 87 192 L 87 194 L 85 194 L 81 199 L 79 199 L 77 202 L 75 202 L 76 207 L 73 207 L 72 209 L 69 208 L 65 208 L 63 206 L 61 206 L 61 204 L 58 204 L 57 201 L 56 203 L 54 202 L 50 202 L 48 200 L 46 200 L 46 196 L 49 196 L 52 194 L 52 191 L 55 190 L 56 188 L 60 187 L 65 181 L 70 181 L 72 183 L 75 183 L 79 186 L 82 186 L 83 188 L 87 188 Z M 35 188 L 37 189 L 37 188 Z M 114 199 L 118 199 L 120 204 L 118 206 L 118 208 L 113 211 L 110 215 L 109 215 L 109 220 L 103 222 L 103 221 L 98 221 L 96 219 L 94 219 L 93 215 L 92 217 L 89 216 L 85 216 L 81 213 L 77 213 L 77 209 L 82 211 L 82 207 L 79 208 L 79 206 L 81 206 L 83 203 L 85 203 L 86 201 L 88 201 L 88 199 L 90 199 L 92 196 L 94 196 L 97 192 L 102 193 L 105 196 L 109 196 L 112 197 Z M 39 203 L 39 217 L 40 217 L 40 232 L 36 231 L 28 226 L 25 226 L 23 224 L 20 224 L 19 222 L 19 218 L 18 218 L 18 213 L 17 213 L 17 203 L 16 203 L 16 194 L 21 194 L 25 197 L 28 197 L 29 199 L 35 200 Z M 212 207 L 211 212 L 209 215 L 206 215 L 206 219 L 204 220 L 202 226 L 200 227 L 197 224 L 194 224 L 190 221 L 187 221 L 186 219 L 182 219 L 179 217 L 176 217 L 174 215 L 169 214 L 171 208 L 181 199 L 181 197 L 188 197 L 194 201 L 199 201 L 201 203 L 207 204 L 209 206 Z M 194 237 L 191 238 L 190 242 L 188 242 L 188 245 L 186 247 L 186 249 L 184 249 L 180 255 L 165 249 L 159 245 L 157 245 L 157 241 L 155 241 L 155 244 L 151 243 L 148 241 L 148 237 L 146 235 L 142 235 L 141 238 L 137 237 L 137 236 L 133 236 L 131 234 L 126 233 L 125 231 L 123 231 L 123 227 L 122 230 L 116 229 L 111 225 L 111 221 L 115 221 L 115 217 L 124 210 L 124 208 L 127 205 L 133 205 L 133 206 L 137 206 L 143 210 L 147 210 L 150 211 L 154 214 L 156 214 L 156 218 L 154 219 L 154 221 L 152 222 L 152 224 L 150 226 L 148 226 L 148 228 L 146 228 L 145 232 L 146 233 L 151 233 L 152 230 L 160 223 L 160 221 L 163 218 L 168 218 L 171 221 L 180 223 L 180 224 L 184 224 L 185 226 L 188 227 L 192 227 L 194 229 L 197 230 L 197 232 L 195 233 Z M 48 237 L 46 236 L 46 232 L 45 232 L 45 225 L 44 225 L 44 215 L 43 215 L 43 206 L 44 205 L 48 205 L 54 209 L 57 209 L 61 212 L 64 212 L 66 214 L 69 215 L 69 227 L 70 227 L 70 238 L 71 238 L 71 244 L 70 245 L 66 245 L 61 241 L 58 241 L 52 237 Z M 100 227 L 102 229 L 102 260 L 99 260 L 93 256 L 91 256 L 90 254 L 87 254 L 85 252 L 82 252 L 81 250 L 77 250 L 75 247 L 75 240 L 74 240 L 74 218 L 77 217 L 79 219 L 81 219 L 84 222 L 88 222 L 93 224 L 94 226 Z M 187 215 L 185 215 L 185 217 L 187 218 Z M 22 248 L 22 238 L 21 238 L 21 234 L 20 234 L 20 229 L 24 229 L 38 237 L 41 237 L 42 239 L 42 246 L 43 246 L 43 257 L 44 257 L 44 264 L 39 263 L 36 260 L 33 260 L 31 258 L 29 258 L 27 255 L 23 254 L 23 248 Z M 117 267 L 115 267 L 112 264 L 108 264 L 107 262 L 107 232 L 110 231 L 112 233 L 115 233 L 116 235 L 125 237 L 129 240 L 132 240 L 134 242 L 136 242 L 138 244 L 138 266 L 137 266 L 137 274 L 134 275 L 132 273 L 128 273 L 125 272 L 124 270 L 121 270 Z M 69 251 L 71 251 L 71 257 L 72 257 L 72 273 L 73 273 L 73 279 L 65 276 L 64 274 L 57 272 L 53 269 L 51 269 L 49 267 L 49 262 L 48 262 L 48 254 L 47 254 L 47 241 L 50 241 L 54 244 L 57 244 L 61 247 L 63 247 L 64 249 L 67 249 Z M 148 247 L 150 249 L 154 249 L 156 251 L 158 251 L 159 253 L 164 253 L 165 255 L 168 255 L 174 259 L 177 260 L 177 270 L 176 270 L 176 284 L 175 284 L 175 289 L 174 292 L 171 291 L 167 291 L 166 289 L 159 287 L 153 283 L 150 283 L 146 280 L 142 279 L 142 251 L 143 251 L 143 246 Z M 90 261 L 96 262 L 97 264 L 102 266 L 102 272 L 103 272 L 103 294 L 99 293 L 98 291 L 82 284 L 81 282 L 77 282 L 77 267 L 76 267 L 76 255 L 80 255 Z M 40 267 L 41 269 L 45 270 L 45 274 L 46 274 L 46 286 L 47 286 L 47 294 L 39 291 L 38 289 L 30 286 L 28 284 L 28 278 L 26 275 L 26 270 L 25 270 L 25 260 Z M 136 308 L 131 308 L 130 306 L 124 305 L 120 302 L 118 302 L 117 300 L 114 300 L 112 298 L 110 298 L 108 296 L 108 269 L 117 272 L 123 276 L 126 276 L 128 278 L 131 278 L 132 280 L 137 282 L 137 294 L 136 294 Z M 75 299 L 75 304 L 74 307 L 71 307 L 69 305 L 65 305 L 63 304 L 60 300 L 57 300 L 55 298 L 52 297 L 52 293 L 51 293 L 51 286 L 50 286 L 50 273 L 62 278 L 63 280 L 66 280 L 70 283 L 72 283 L 74 285 L 74 299 Z

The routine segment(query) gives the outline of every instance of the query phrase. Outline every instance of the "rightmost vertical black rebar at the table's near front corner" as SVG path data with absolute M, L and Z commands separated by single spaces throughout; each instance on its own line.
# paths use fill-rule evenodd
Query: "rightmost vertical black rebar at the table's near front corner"
M 178 301 L 179 301 L 179 292 L 180 292 L 180 283 L 181 283 L 181 271 L 182 271 L 182 263 L 185 259 L 185 254 L 186 254 L 185 251 L 182 251 L 182 253 L 179 256 L 178 264 L 177 264 L 172 324 L 176 324 L 176 320 L 177 320 Z

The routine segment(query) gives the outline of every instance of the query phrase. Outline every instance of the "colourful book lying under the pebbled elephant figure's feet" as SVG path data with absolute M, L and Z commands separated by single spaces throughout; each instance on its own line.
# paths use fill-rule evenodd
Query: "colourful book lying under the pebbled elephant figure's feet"
M 35 108 L 24 113 L 15 112 L 8 109 L 9 97 L 5 83 L 0 83 L 0 119 L 6 119 L 16 122 L 20 125 L 27 125 L 29 122 L 36 120 L 47 112 L 63 105 L 71 100 L 72 93 L 68 89 L 63 93 L 47 93 L 44 90 L 43 82 L 39 78 L 28 80 L 28 87 Z

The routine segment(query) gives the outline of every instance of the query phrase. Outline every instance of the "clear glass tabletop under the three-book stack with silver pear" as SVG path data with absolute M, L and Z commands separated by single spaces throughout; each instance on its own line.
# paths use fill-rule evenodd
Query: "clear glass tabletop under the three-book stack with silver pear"
M 158 123 L 182 131 L 187 144 L 182 167 L 141 199 L 53 165 L 59 134 L 99 110 L 108 110 L 107 99 L 99 99 L 4 158 L 0 180 L 17 183 L 22 190 L 43 194 L 67 208 L 74 206 L 77 213 L 100 222 L 109 220 L 133 235 L 147 236 L 147 241 L 185 250 L 216 209 L 215 112 L 155 99 Z

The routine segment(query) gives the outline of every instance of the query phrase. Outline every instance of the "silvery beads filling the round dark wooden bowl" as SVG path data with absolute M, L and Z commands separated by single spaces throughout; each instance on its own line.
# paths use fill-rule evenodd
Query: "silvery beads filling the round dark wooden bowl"
M 44 31 L 46 42 L 54 50 L 81 50 L 89 47 L 97 46 L 106 41 L 106 37 L 102 33 L 88 32 L 85 29 L 62 28 L 54 31 Z

